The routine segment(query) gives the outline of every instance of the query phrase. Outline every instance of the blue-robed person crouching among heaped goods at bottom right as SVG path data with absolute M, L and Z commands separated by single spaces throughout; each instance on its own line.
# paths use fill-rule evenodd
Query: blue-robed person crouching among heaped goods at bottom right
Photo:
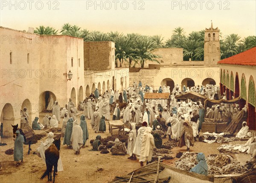
M 191 168 L 191 172 L 195 172 L 197 174 L 208 175 L 208 166 L 205 160 L 204 153 L 198 153 L 196 159 L 198 160 L 198 164 Z

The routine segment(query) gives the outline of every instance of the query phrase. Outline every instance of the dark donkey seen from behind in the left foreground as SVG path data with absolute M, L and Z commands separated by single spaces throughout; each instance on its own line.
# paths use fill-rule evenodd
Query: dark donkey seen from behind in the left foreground
M 48 182 L 52 181 L 52 166 L 54 166 L 53 169 L 53 182 L 55 181 L 55 175 L 58 171 L 58 159 L 60 158 L 59 150 L 61 149 L 61 138 L 54 139 L 52 145 L 50 145 L 47 150 L 45 150 L 45 161 L 46 161 L 46 171 L 41 176 L 40 179 L 43 179 L 46 175 L 48 176 Z

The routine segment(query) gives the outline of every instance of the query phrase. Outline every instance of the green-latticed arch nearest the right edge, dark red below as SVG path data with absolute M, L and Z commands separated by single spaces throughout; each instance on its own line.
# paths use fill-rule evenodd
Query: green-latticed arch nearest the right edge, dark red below
M 250 130 L 256 130 L 256 93 L 255 93 L 255 83 L 253 77 L 250 76 L 249 88 L 248 88 L 248 119 Z

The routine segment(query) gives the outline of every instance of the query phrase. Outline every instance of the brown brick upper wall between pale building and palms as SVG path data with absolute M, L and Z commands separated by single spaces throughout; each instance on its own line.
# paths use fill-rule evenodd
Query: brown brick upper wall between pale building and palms
M 111 69 L 111 42 L 84 42 L 84 69 Z

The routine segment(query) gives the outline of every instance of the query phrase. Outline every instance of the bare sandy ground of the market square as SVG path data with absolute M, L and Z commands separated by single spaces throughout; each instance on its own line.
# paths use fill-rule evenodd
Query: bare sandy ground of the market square
M 80 116 L 79 116 L 80 121 Z M 40 117 L 40 121 L 42 117 Z M 90 139 L 95 139 L 97 135 L 101 135 L 102 138 L 110 136 L 108 133 L 108 122 L 106 121 L 107 131 L 105 133 L 96 134 L 90 127 L 90 120 L 87 121 L 87 126 L 89 130 L 89 140 L 87 140 L 88 147 L 81 149 L 81 154 L 74 154 L 73 149 L 67 149 L 66 145 L 61 146 L 61 160 L 63 163 L 64 171 L 58 172 L 56 176 L 56 183 L 107 183 L 115 176 L 122 176 L 130 173 L 134 169 L 140 168 L 138 160 L 128 160 L 128 154 L 125 156 L 114 156 L 110 154 L 100 154 L 99 151 L 88 151 L 92 148 L 90 145 Z M 62 119 L 59 127 L 62 126 Z M 35 131 L 36 134 L 42 131 Z M 167 139 L 163 139 L 163 143 Z M 6 155 L 4 152 L 6 149 L 14 147 L 13 138 L 2 138 L 2 143 L 5 142 L 7 145 L 0 146 L 0 182 L 1 183 L 46 183 L 47 177 L 44 180 L 40 180 L 41 175 L 46 170 L 46 165 L 43 163 L 41 158 L 36 154 L 27 154 L 28 145 L 24 145 L 24 162 L 20 166 L 16 167 L 13 165 L 13 155 Z M 61 138 L 61 143 L 63 138 Z M 243 142 L 244 143 L 244 142 Z M 32 152 L 40 145 L 38 141 L 37 144 L 32 145 Z M 203 142 L 195 142 L 194 147 L 191 147 L 191 152 L 203 152 L 206 156 L 209 154 L 219 154 L 217 147 L 218 143 L 213 143 L 211 145 Z M 183 148 L 173 148 L 172 155 L 176 156 L 177 152 L 185 152 L 186 147 Z M 239 156 L 239 160 L 244 162 L 250 157 L 248 155 Z M 164 160 L 170 166 L 175 166 L 175 161 L 178 158 L 172 160 Z

